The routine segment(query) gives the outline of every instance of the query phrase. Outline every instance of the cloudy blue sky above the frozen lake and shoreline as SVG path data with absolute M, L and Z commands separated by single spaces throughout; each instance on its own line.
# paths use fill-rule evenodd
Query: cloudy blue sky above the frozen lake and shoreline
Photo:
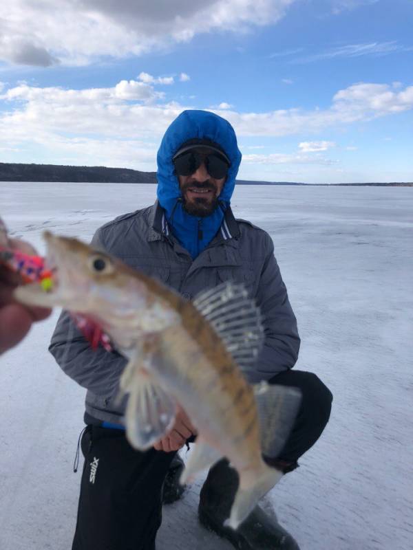
M 14 0 L 0 162 L 156 169 L 183 109 L 237 132 L 240 177 L 413 180 L 410 0 Z

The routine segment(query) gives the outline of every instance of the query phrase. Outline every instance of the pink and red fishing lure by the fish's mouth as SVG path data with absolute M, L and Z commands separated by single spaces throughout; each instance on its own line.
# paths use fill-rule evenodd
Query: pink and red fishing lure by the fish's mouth
M 53 288 L 53 272 L 45 266 L 45 259 L 42 256 L 25 254 L 21 250 L 10 247 L 7 229 L 0 218 L 0 265 L 8 270 L 19 274 L 23 283 L 39 283 L 45 292 Z M 81 331 L 85 340 L 90 342 L 92 349 L 97 349 L 101 344 L 106 351 L 112 351 L 109 336 L 105 334 L 100 326 L 82 314 L 71 313 L 72 320 Z

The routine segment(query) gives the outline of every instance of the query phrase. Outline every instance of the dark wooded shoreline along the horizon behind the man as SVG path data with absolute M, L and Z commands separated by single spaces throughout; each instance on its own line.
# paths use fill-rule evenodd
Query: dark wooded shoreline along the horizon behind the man
M 156 172 L 141 172 L 131 168 L 107 168 L 105 166 L 63 166 L 60 164 L 18 164 L 0 162 L 1 181 L 51 182 L 51 183 L 100 183 L 100 184 L 156 184 Z M 254 181 L 237 179 L 237 185 L 293 185 L 293 186 L 379 186 L 413 187 L 413 181 L 354 184 L 305 184 L 299 181 Z

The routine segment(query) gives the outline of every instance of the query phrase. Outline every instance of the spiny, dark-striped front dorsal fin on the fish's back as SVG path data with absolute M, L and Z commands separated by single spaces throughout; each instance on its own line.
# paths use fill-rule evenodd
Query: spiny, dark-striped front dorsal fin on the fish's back
M 224 342 L 244 373 L 253 370 L 264 342 L 262 316 L 243 285 L 227 281 L 196 296 L 193 305 Z

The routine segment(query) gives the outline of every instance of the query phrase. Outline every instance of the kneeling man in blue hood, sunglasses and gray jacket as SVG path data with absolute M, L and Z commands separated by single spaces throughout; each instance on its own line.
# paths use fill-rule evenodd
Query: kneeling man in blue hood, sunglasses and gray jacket
M 158 278 L 186 300 L 226 281 L 246 288 L 262 312 L 264 345 L 244 375 L 251 384 L 266 381 L 301 392 L 282 450 L 264 456 L 286 473 L 324 430 L 332 395 L 313 373 L 291 370 L 299 336 L 273 241 L 252 223 L 235 219 L 230 206 L 240 161 L 229 122 L 207 111 L 184 111 L 160 144 L 156 203 L 106 223 L 92 244 Z M 63 371 L 87 388 L 81 439 L 85 465 L 72 550 L 154 550 L 162 503 L 184 492 L 177 451 L 197 435 L 191 418 L 178 406 L 171 430 L 149 450 L 135 450 L 125 437 L 125 399 L 116 399 L 127 362 L 123 355 L 103 347 L 94 351 L 64 311 L 50 351 Z M 298 549 L 258 505 L 237 529 L 224 525 L 238 485 L 228 461 L 216 462 L 200 492 L 200 522 L 236 548 Z

